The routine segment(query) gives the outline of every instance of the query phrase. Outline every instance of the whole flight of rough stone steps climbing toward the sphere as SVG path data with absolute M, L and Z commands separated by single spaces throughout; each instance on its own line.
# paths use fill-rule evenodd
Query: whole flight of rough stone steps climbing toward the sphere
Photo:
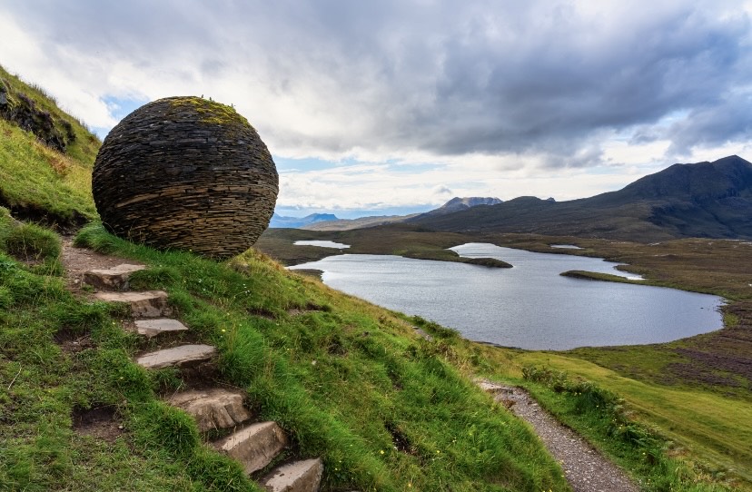
M 175 333 L 188 330 L 183 323 L 170 318 L 173 313 L 166 292 L 129 290 L 131 274 L 144 268 L 122 264 L 109 270 L 86 271 L 84 282 L 97 289 L 95 299 L 128 304 L 136 330 L 147 339 L 169 339 Z M 145 353 L 136 363 L 145 369 L 188 368 L 212 364 L 215 356 L 216 349 L 211 345 L 185 344 Z M 191 415 L 204 436 L 210 431 L 229 431 L 210 445 L 240 462 L 250 476 L 267 467 L 289 446 L 289 439 L 275 422 L 253 421 L 251 413 L 243 406 L 243 397 L 237 390 L 190 389 L 172 395 L 167 402 Z M 258 481 L 270 492 L 316 492 L 322 473 L 321 458 L 302 459 L 274 467 Z

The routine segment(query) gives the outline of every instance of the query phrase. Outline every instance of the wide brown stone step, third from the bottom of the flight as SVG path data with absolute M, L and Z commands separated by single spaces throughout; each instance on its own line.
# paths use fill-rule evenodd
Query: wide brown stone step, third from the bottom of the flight
M 168 402 L 183 408 L 198 424 L 199 431 L 232 428 L 251 418 L 242 406 L 242 393 L 228 389 L 197 389 L 173 395 Z

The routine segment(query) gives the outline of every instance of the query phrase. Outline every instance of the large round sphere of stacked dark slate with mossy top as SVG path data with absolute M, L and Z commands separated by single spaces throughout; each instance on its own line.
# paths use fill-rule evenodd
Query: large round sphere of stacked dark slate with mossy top
M 168 97 L 107 135 L 92 192 L 107 231 L 222 259 L 250 248 L 268 227 L 279 176 L 258 133 L 232 107 Z

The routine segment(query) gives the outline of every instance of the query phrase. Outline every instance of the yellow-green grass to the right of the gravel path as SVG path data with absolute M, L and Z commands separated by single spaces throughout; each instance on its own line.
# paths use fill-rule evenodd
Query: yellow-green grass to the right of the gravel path
M 721 481 L 737 477 L 744 480 L 737 482 L 739 489 L 752 488 L 749 485 L 752 483 L 749 472 L 752 469 L 749 448 L 749 442 L 752 442 L 752 408 L 746 401 L 699 389 L 646 384 L 583 360 L 555 353 L 519 353 L 514 355 L 514 359 L 520 366 L 565 371 L 617 394 L 625 400 L 623 405 L 628 409 L 630 418 L 645 428 L 654 429 L 661 446 L 667 447 L 668 455 L 681 459 L 686 469 L 690 470 L 687 473 L 691 477 L 717 478 Z M 569 408 L 573 403 L 566 401 L 566 395 L 555 392 L 547 394 L 540 390 L 534 393 L 549 411 L 589 436 L 599 448 L 606 448 L 611 456 L 618 456 L 614 449 L 609 449 L 614 444 L 609 433 L 599 428 L 602 422 L 598 426 L 594 424 L 594 420 L 599 418 L 577 411 L 576 407 Z M 637 469 L 629 461 L 627 465 L 628 469 Z M 652 481 L 658 482 L 657 477 L 653 477 Z

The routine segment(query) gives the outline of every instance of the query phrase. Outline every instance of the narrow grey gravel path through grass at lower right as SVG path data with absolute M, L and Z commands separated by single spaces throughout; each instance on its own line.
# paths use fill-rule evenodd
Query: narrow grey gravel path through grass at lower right
M 507 406 L 511 404 L 511 411 L 535 429 L 549 453 L 564 468 L 569 485 L 575 492 L 639 491 L 621 469 L 540 408 L 524 389 L 500 386 L 489 381 L 479 381 L 478 384 L 493 394 L 497 401 L 505 401 Z

